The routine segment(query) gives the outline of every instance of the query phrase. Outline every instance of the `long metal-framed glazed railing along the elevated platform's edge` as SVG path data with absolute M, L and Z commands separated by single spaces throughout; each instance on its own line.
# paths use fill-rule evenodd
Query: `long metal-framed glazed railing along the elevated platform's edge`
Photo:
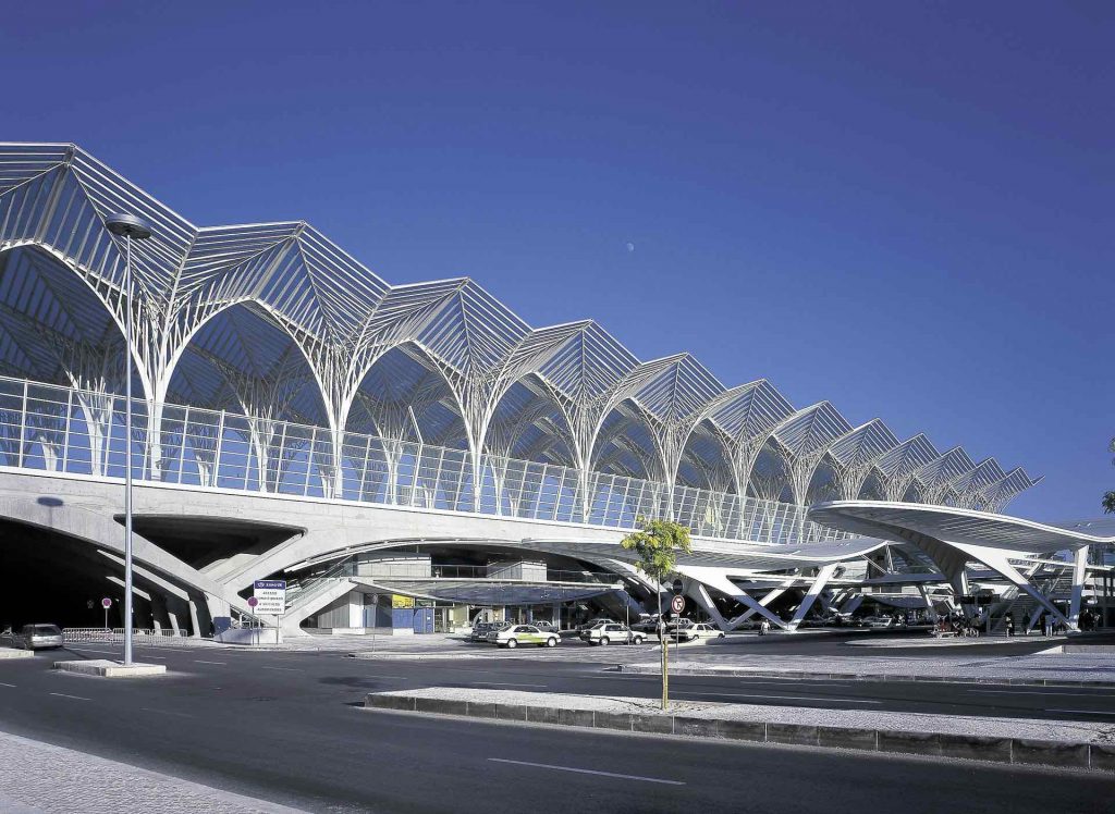
M 123 397 L 0 377 L 0 466 L 124 476 Z M 706 537 L 840 540 L 789 503 L 134 399 L 137 481 L 633 527 L 669 516 Z M 149 433 L 154 424 L 157 432 Z

